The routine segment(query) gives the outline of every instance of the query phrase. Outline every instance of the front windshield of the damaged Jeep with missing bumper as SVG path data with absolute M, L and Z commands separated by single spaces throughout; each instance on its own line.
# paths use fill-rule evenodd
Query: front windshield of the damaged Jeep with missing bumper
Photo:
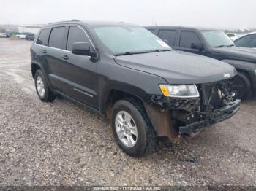
M 146 28 L 138 26 L 95 26 L 99 39 L 113 55 L 171 50 Z

